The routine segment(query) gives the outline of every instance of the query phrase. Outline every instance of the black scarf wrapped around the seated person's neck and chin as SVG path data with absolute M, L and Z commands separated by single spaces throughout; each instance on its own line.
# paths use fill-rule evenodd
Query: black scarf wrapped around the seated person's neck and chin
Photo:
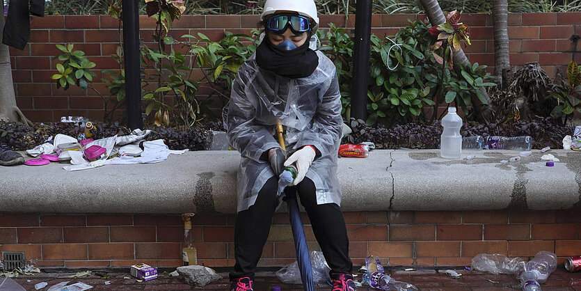
M 303 45 L 292 50 L 285 50 L 273 45 L 268 36 L 264 36 L 256 49 L 256 63 L 264 69 L 289 78 L 308 77 L 319 65 L 319 56 L 309 48 L 309 33 Z

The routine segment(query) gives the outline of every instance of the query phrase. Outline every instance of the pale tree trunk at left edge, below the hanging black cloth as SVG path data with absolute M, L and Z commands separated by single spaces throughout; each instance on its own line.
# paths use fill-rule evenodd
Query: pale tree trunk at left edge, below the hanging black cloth
M 0 40 L 4 30 L 3 9 L 0 16 Z M 24 117 L 22 111 L 16 106 L 14 84 L 12 81 L 12 68 L 10 68 L 10 52 L 8 45 L 0 41 L 0 120 L 20 121 L 32 125 L 31 121 Z

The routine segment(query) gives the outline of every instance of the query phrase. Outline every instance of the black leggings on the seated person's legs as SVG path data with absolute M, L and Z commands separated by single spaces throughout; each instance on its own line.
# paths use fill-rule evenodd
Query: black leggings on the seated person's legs
M 277 183 L 276 177 L 267 180 L 258 192 L 254 205 L 248 210 L 238 212 L 234 227 L 236 265 L 234 271 L 230 272 L 230 280 L 243 277 L 254 279 L 256 265 L 260 260 L 262 247 L 269 237 L 272 217 L 278 203 Z M 349 259 L 349 238 L 339 205 L 317 205 L 315 183 L 306 177 L 296 185 L 296 191 L 309 215 L 313 233 L 331 272 L 351 274 L 353 263 Z

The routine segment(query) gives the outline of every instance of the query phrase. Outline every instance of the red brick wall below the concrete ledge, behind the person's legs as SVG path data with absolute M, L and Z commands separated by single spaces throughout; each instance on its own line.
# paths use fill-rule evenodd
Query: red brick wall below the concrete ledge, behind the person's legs
M 537 251 L 557 253 L 559 264 L 580 255 L 581 217 L 574 210 L 530 212 L 344 212 L 353 264 L 378 255 L 386 265 L 470 265 L 478 253 L 525 260 Z M 198 263 L 234 265 L 233 214 L 193 217 Z M 319 250 L 303 214 L 312 250 Z M 183 223 L 179 215 L 0 214 L 0 251 L 25 251 L 40 267 L 127 267 L 146 262 L 177 267 Z M 293 262 L 287 214 L 276 214 L 260 266 Z

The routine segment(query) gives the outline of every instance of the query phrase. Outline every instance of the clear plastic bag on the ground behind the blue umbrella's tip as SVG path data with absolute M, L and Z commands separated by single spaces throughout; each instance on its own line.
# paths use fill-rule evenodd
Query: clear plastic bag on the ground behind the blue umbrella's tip
M 328 267 L 327 262 L 323 253 L 320 251 L 311 251 L 310 262 L 312 265 L 312 283 L 322 284 L 326 283 L 329 271 L 331 268 Z M 302 284 L 301 281 L 301 271 L 299 271 L 299 263 L 294 261 L 282 269 L 276 272 L 276 276 L 282 281 L 282 283 L 287 284 Z

